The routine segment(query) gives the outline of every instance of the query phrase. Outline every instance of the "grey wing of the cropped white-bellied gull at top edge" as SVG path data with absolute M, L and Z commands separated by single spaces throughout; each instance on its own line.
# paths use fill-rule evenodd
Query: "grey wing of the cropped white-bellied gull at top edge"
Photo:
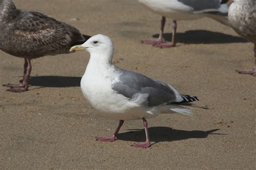
M 219 9 L 220 0 L 177 0 L 187 6 L 190 6 L 194 11 L 201 11 L 207 9 Z

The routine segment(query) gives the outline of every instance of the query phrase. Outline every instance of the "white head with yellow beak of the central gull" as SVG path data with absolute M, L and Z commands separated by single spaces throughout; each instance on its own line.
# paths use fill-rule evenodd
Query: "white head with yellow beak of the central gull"
M 86 50 L 90 54 L 105 54 L 108 56 L 113 56 L 113 43 L 111 39 L 107 36 L 98 34 L 89 38 L 82 45 L 72 46 L 70 52 L 76 52 L 80 50 Z

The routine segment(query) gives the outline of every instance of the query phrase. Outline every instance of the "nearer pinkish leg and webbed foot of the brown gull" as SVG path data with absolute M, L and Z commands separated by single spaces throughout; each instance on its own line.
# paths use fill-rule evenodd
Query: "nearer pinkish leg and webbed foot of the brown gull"
M 28 91 L 29 89 L 29 77 L 30 77 L 30 73 L 31 73 L 31 70 L 32 70 L 32 65 L 31 65 L 31 59 L 28 59 L 26 58 L 27 62 L 28 62 L 28 65 L 26 67 L 26 71 L 24 70 L 24 77 L 23 78 L 23 84 L 24 86 L 21 86 L 21 87 L 11 87 L 11 89 L 7 90 L 7 91 L 11 91 L 11 92 L 25 92 L 25 91 Z M 25 64 L 24 64 L 25 66 Z

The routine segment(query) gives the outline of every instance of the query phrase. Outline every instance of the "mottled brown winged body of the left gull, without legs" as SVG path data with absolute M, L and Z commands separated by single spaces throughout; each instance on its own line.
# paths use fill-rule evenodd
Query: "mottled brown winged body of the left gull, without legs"
M 83 44 L 89 36 L 71 25 L 38 12 L 20 11 L 9 22 L 4 51 L 15 56 L 41 57 L 69 53 L 72 45 Z M 8 49 L 9 48 L 9 49 Z

